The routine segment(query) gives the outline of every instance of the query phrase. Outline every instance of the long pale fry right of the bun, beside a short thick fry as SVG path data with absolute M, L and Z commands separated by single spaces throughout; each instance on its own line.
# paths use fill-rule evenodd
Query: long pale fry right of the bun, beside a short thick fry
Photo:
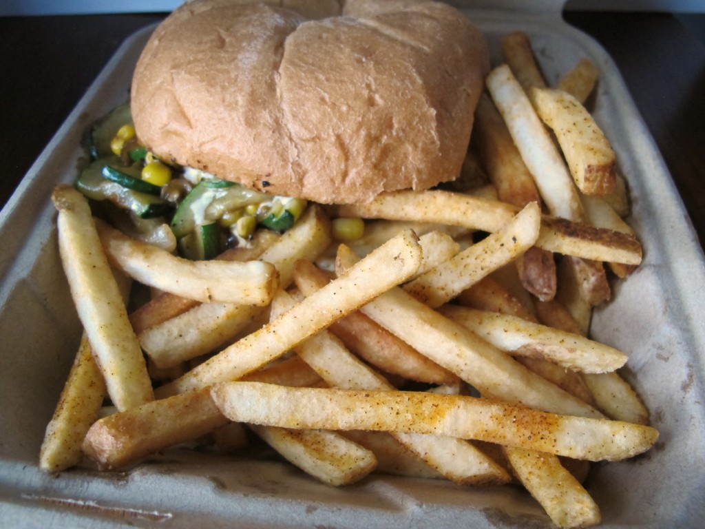
M 580 197 L 563 157 L 510 68 L 495 68 L 487 76 L 486 85 L 548 211 L 556 217 L 584 222 Z

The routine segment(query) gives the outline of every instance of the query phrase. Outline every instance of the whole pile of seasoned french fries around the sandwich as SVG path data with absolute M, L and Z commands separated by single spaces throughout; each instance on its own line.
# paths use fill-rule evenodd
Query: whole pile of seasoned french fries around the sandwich
M 547 87 L 527 36 L 486 80 L 463 190 L 309 205 L 281 236 L 188 262 L 92 217 L 59 186 L 59 249 L 85 329 L 40 454 L 134 465 L 254 433 L 314 478 L 374 471 L 520 483 L 560 527 L 594 525 L 589 461 L 648 450 L 627 355 L 587 337 L 641 261 L 581 61 Z M 340 243 L 331 218 L 367 219 Z M 154 295 L 128 313 L 130 281 Z

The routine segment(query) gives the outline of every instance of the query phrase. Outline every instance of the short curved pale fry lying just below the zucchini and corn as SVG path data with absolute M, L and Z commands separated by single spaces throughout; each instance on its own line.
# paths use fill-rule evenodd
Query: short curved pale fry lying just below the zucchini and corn
M 103 248 L 120 269 L 140 283 L 202 303 L 268 305 L 278 275 L 263 261 L 191 261 L 135 241 L 96 221 Z

